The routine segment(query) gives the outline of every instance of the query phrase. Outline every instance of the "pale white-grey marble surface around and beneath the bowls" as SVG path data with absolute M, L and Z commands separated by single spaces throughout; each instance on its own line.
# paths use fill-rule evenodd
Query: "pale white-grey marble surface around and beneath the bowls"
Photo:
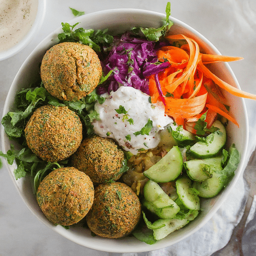
M 46 0 L 46 14 L 42 27 L 37 36 L 15 56 L 0 62 L 0 110 L 4 105 L 8 88 L 19 69 L 20 65 L 32 51 L 32 49 L 49 32 L 73 18 L 69 7 L 85 13 L 90 13 L 111 8 L 139 8 L 165 13 L 166 0 Z M 230 63 L 237 80 L 243 90 L 256 93 L 256 1 L 255 0 L 176 0 L 171 1 L 171 15 L 192 26 L 209 39 L 223 55 L 237 55 L 244 60 Z M 248 153 L 255 146 L 255 108 L 256 102 L 245 100 L 249 124 L 250 139 Z M 249 155 L 248 155 L 249 156 Z M 235 192 L 242 198 L 242 179 L 238 182 L 241 188 L 230 194 L 225 206 L 235 208 L 231 203 L 235 200 Z M 217 221 L 223 211 L 221 207 L 214 217 L 202 228 L 217 229 L 216 224 L 226 226 L 230 233 L 237 218 L 227 215 L 221 221 Z M 238 205 L 239 207 L 239 205 Z M 200 229 L 201 230 L 201 229 Z M 200 230 L 197 236 L 200 237 Z M 217 248 L 221 248 L 228 238 L 214 231 L 213 241 Z M 223 235 L 220 241 L 218 238 Z M 205 237 L 201 237 L 205 239 Z M 177 245 L 166 249 L 138 253 L 138 255 L 210 255 L 216 246 L 208 244 L 207 250 L 200 249 L 198 244 L 193 244 L 194 237 L 189 237 Z M 118 253 L 107 253 L 95 251 L 77 245 L 67 240 L 43 225 L 23 203 L 15 190 L 7 173 L 6 166 L 0 169 L 0 256 L 67 256 L 67 255 L 119 255 Z M 124 253 L 123 255 L 137 255 Z

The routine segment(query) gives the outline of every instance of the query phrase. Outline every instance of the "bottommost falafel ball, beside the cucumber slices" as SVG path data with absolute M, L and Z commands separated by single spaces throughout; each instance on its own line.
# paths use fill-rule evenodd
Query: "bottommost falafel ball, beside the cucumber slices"
M 95 188 L 93 204 L 85 219 L 95 234 L 118 238 L 134 229 L 140 214 L 141 205 L 135 192 L 124 183 L 112 182 Z

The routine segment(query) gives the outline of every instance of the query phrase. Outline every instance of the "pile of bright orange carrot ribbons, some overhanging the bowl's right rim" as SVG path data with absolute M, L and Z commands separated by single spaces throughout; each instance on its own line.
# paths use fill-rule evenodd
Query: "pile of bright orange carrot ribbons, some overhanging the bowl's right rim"
M 165 38 L 170 43 L 174 40 L 186 40 L 187 43 L 180 47 L 163 46 L 157 51 L 157 58 L 160 61 L 169 61 L 170 66 L 160 71 L 157 76 L 148 77 L 151 102 L 161 100 L 165 105 L 165 113 L 183 127 L 187 125 L 193 132 L 194 123 L 204 112 L 207 127 L 212 124 L 217 114 L 238 126 L 226 108 L 227 100 L 221 89 L 236 96 L 255 100 L 256 95 L 226 83 L 205 65 L 243 58 L 201 53 L 198 43 L 183 34 L 167 34 Z

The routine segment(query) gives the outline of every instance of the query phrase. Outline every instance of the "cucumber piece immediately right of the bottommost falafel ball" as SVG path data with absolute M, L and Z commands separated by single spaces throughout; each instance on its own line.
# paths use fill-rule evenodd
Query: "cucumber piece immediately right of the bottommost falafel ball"
M 153 180 L 148 180 L 143 188 L 143 205 L 160 218 L 172 218 L 179 211 L 179 206 Z

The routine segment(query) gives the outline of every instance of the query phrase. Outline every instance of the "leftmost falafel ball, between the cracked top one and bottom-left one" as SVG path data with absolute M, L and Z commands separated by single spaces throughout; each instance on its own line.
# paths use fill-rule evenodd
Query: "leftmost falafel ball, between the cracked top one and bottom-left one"
M 38 107 L 25 127 L 28 147 L 45 161 L 69 157 L 82 140 L 79 116 L 67 106 Z

